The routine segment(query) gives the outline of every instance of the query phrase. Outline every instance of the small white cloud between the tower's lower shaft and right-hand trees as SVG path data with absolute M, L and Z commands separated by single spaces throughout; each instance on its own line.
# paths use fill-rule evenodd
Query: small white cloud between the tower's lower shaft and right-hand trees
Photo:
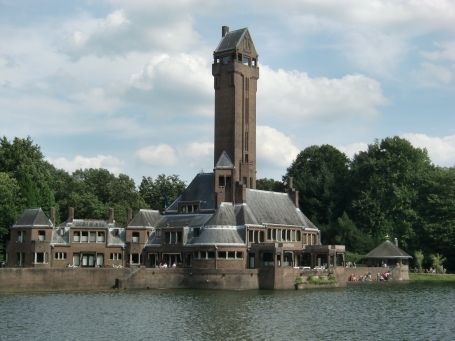
M 286 168 L 300 152 L 289 137 L 274 128 L 258 126 L 256 134 L 258 163 Z

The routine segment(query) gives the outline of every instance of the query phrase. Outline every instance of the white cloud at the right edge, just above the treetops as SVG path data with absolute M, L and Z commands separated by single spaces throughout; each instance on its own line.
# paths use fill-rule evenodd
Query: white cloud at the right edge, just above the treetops
M 432 137 L 425 134 L 406 133 L 401 135 L 414 147 L 426 148 L 431 161 L 440 166 L 455 166 L 455 135 Z

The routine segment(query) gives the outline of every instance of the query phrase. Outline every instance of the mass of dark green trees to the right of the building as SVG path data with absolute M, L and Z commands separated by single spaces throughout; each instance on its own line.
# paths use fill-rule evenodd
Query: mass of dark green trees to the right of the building
M 388 236 L 414 258 L 423 255 L 427 267 L 444 255 L 453 270 L 455 168 L 434 165 L 426 149 L 388 137 L 351 160 L 330 145 L 310 146 L 283 181 L 259 179 L 257 187 L 284 188 L 289 177 L 301 211 L 321 229 L 324 244 L 344 244 L 365 255 Z

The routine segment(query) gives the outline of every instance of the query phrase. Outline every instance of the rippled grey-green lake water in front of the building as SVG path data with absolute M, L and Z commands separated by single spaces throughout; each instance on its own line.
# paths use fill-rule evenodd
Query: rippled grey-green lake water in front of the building
M 455 340 L 455 285 L 0 295 L 0 340 Z

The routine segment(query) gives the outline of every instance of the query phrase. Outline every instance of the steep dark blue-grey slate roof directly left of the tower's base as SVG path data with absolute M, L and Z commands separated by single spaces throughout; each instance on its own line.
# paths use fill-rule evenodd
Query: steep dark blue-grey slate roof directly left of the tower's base
M 201 210 L 213 210 L 215 209 L 214 192 L 213 173 L 199 173 L 166 212 L 176 212 L 180 201 L 200 201 Z

